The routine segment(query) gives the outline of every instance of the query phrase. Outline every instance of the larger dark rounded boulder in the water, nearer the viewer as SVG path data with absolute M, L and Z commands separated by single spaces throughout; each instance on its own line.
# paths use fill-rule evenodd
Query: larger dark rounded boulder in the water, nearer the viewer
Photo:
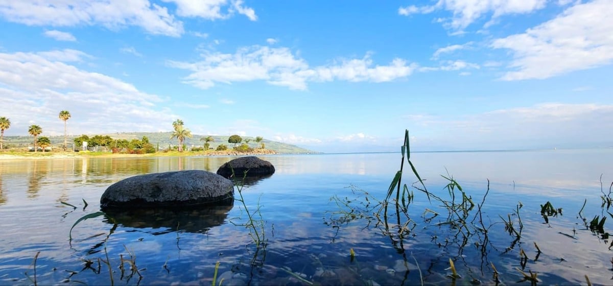
M 133 176 L 112 184 L 100 198 L 104 208 L 232 205 L 234 184 L 208 171 L 170 171 Z

